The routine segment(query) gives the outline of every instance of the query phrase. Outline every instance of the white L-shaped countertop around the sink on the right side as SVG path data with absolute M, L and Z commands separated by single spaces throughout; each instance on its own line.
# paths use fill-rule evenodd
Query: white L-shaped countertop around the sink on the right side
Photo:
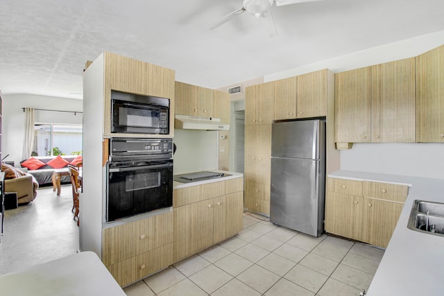
M 444 295 L 444 237 L 407 228 L 414 200 L 444 202 L 444 180 L 355 171 L 337 171 L 328 177 L 411 185 L 367 296 Z

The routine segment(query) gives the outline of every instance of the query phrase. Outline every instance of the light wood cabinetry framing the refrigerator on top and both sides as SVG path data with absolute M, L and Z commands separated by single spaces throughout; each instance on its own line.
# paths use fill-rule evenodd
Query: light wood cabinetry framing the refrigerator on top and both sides
M 248 211 L 269 216 L 271 126 L 275 120 L 325 117 L 327 173 L 339 169 L 334 149 L 334 75 L 327 69 L 246 88 L 245 200 Z

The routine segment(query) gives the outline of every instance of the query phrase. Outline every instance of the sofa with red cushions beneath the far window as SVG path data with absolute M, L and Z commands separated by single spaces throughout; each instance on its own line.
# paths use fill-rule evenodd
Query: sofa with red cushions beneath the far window
M 53 184 L 52 175 L 54 170 L 68 171 L 68 164 L 76 166 L 79 162 L 82 162 L 82 155 L 37 156 L 22 160 L 20 166 L 22 166 L 23 171 L 33 175 L 40 186 L 47 186 Z M 63 175 L 60 178 L 60 183 L 71 183 L 71 177 Z

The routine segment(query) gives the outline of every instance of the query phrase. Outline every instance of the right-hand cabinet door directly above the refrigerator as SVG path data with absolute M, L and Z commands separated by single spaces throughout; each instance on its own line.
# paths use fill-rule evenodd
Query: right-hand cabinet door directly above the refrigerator
M 300 75 L 297 82 L 298 118 L 327 116 L 327 70 Z

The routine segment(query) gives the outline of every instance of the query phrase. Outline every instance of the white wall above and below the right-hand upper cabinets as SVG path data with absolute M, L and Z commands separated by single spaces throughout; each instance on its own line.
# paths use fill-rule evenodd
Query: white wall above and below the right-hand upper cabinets
M 320 69 L 347 71 L 411 58 L 444 44 L 444 31 L 378 46 L 265 76 L 264 81 L 297 76 Z M 341 169 L 444 179 L 443 143 L 355 143 L 341 151 Z

